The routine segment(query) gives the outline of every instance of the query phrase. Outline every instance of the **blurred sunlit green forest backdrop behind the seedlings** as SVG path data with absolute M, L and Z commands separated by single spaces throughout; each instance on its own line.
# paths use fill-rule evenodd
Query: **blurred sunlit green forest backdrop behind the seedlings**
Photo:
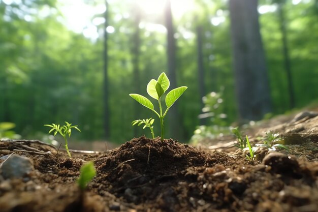
M 0 122 L 22 138 L 42 139 L 44 124 L 64 121 L 79 126 L 79 140 L 150 137 L 131 122 L 156 117 L 129 94 L 147 96 L 149 80 L 165 71 L 172 88 L 188 86 L 168 114 L 167 137 L 187 142 L 195 131 L 212 136 L 211 126 L 244 123 L 231 1 L 172 0 L 170 10 L 170 1 L 86 0 L 75 1 L 82 11 L 66 11 L 67 1 L 0 0 Z M 271 102 L 263 117 L 316 101 L 318 1 L 260 0 L 256 8 Z M 154 125 L 159 136 L 157 118 Z

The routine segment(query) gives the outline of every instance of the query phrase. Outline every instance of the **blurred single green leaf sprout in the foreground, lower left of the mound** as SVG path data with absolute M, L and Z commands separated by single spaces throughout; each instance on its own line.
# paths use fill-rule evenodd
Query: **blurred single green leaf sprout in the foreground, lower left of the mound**
M 94 163 L 92 161 L 89 161 L 85 163 L 81 169 L 80 169 L 80 176 L 77 179 L 77 185 L 78 187 L 84 191 L 87 184 L 90 180 L 94 178 L 96 175 L 96 170 L 94 168 Z

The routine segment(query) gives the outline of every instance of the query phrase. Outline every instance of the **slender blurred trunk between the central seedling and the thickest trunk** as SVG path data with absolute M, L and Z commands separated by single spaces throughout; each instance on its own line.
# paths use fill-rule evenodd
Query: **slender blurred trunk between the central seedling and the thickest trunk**
M 202 26 L 197 27 L 197 51 L 198 51 L 198 83 L 199 94 L 201 100 L 201 109 L 204 107 L 202 97 L 206 95 L 205 83 L 204 83 L 204 63 L 203 63 L 203 48 L 202 48 Z M 200 118 L 200 125 L 204 125 L 205 119 Z

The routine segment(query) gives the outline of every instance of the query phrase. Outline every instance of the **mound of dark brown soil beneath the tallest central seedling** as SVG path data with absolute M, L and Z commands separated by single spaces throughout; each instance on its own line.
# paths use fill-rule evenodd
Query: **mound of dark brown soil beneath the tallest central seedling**
M 140 137 L 96 160 L 99 174 L 91 185 L 100 194 L 109 190 L 127 202 L 160 202 L 167 209 L 178 202 L 178 183 L 193 183 L 199 169 L 233 163 L 234 159 L 226 154 L 209 154 L 172 139 L 162 142 Z M 179 198 L 186 198 L 186 194 Z

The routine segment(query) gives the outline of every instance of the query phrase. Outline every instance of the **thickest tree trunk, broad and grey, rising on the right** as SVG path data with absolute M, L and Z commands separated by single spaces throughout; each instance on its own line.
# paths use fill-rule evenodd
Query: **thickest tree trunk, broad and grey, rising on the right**
M 230 0 L 236 97 L 241 119 L 271 111 L 271 98 L 256 0 Z

